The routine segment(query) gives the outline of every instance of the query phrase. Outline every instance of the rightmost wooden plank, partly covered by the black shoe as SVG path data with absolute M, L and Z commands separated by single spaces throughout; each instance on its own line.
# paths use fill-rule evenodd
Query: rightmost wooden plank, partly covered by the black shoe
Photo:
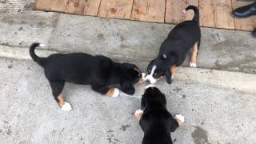
M 246 6 L 249 5 L 252 2 L 242 2 L 242 1 L 236 1 L 232 0 L 232 6 L 233 10 L 240 7 L 240 6 Z M 251 16 L 249 18 L 234 18 L 234 29 L 235 30 L 254 30 L 254 26 L 256 26 L 256 23 L 254 21 L 254 16 Z

